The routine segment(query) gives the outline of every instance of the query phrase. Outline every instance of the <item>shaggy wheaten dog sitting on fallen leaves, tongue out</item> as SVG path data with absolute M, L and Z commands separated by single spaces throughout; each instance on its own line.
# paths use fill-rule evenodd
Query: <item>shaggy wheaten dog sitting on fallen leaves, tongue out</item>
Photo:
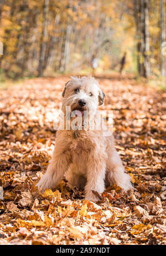
M 98 106 L 103 104 L 105 94 L 95 78 L 71 77 L 65 84 L 62 96 L 62 111 L 65 117 L 68 116 L 67 120 L 72 112 L 81 119 L 87 112 L 87 117 L 95 120 L 95 124 L 100 122 Z M 68 115 L 66 107 L 70 107 Z M 71 119 L 74 120 L 73 117 Z M 58 130 L 53 157 L 37 184 L 40 191 L 54 188 L 64 175 L 70 188 L 76 186 L 85 189 L 85 198 L 92 202 L 98 200 L 96 194 L 101 194 L 105 186 L 116 183 L 125 190 L 133 189 L 113 145 L 112 133 L 103 128 L 90 129 L 90 124 L 86 129 Z

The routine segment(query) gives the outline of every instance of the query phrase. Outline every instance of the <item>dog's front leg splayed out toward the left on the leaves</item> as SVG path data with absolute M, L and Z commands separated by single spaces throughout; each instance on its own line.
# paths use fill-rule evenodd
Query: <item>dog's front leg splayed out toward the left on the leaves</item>
M 54 149 L 53 158 L 46 170 L 46 173 L 39 180 L 37 186 L 43 192 L 46 188 L 54 188 L 61 179 L 64 173 L 68 170 L 70 164 L 70 155 L 67 153 L 56 152 Z

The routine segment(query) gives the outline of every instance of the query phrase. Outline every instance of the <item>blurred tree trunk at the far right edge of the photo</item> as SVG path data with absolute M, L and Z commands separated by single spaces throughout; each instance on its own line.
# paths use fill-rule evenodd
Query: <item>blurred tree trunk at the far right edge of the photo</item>
M 161 60 L 160 60 L 160 70 L 162 77 L 166 77 L 166 56 L 163 53 L 164 44 L 166 44 L 165 36 L 165 6 L 164 0 L 160 0 L 160 51 L 161 51 Z

